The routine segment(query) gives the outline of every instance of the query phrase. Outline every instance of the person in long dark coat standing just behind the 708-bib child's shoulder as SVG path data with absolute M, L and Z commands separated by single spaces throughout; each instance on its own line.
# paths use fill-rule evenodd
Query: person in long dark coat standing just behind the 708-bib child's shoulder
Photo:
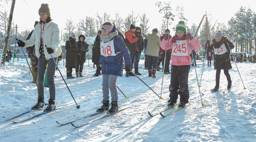
M 100 74 L 100 69 L 98 67 L 99 65 L 99 60 L 100 60 L 100 35 L 101 35 L 101 30 L 98 31 L 98 35 L 96 36 L 94 40 L 94 44 L 92 45 L 92 63 L 96 64 L 96 73 L 93 76 L 99 76 Z

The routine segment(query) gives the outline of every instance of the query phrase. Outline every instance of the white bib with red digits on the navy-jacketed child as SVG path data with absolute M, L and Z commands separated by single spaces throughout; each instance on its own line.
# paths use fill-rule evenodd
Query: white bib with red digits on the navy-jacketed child
M 115 54 L 114 38 L 112 41 L 108 41 L 106 43 L 104 43 L 103 41 L 100 42 L 100 54 L 102 56 L 116 56 L 117 53 Z

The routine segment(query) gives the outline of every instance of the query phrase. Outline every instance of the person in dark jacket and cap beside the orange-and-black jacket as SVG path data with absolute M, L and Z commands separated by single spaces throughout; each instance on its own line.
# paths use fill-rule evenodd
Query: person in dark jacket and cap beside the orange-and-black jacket
M 138 46 L 139 51 L 137 51 L 136 54 L 135 54 L 134 73 L 136 75 L 141 75 L 141 73 L 139 73 L 139 62 L 140 62 L 141 52 L 144 49 L 144 41 L 143 41 L 143 36 L 141 35 L 140 27 L 137 26 L 135 32 L 136 32 L 137 37 L 138 37 L 137 46 Z

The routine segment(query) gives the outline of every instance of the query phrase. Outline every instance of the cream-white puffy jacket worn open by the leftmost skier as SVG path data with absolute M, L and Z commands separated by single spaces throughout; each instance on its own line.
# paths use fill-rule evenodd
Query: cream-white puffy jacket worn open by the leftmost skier
M 29 46 L 33 46 L 35 44 L 36 49 L 36 57 L 40 57 L 40 42 L 41 42 L 41 27 L 42 25 L 38 23 L 35 26 L 35 29 L 30 37 L 29 40 L 23 41 L 25 43 L 25 48 Z M 57 24 L 53 23 L 52 21 L 48 22 L 44 27 L 44 55 L 46 60 L 51 59 L 51 55 L 47 53 L 47 49 L 45 47 L 47 45 L 49 48 L 53 49 L 52 56 L 59 57 L 61 54 L 61 46 L 60 46 L 60 29 Z

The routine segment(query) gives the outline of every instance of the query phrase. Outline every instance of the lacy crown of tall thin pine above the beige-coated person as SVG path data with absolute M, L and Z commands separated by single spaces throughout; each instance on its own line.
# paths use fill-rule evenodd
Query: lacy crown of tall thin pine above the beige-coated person
M 156 6 L 159 8 L 159 13 L 163 13 L 164 12 L 164 19 L 166 19 L 166 26 L 168 29 L 168 25 L 171 25 L 172 22 L 170 22 L 170 20 L 174 21 L 174 17 L 175 15 L 172 14 L 172 8 L 171 8 L 171 2 L 165 2 L 164 4 L 162 4 L 162 2 L 157 2 Z

